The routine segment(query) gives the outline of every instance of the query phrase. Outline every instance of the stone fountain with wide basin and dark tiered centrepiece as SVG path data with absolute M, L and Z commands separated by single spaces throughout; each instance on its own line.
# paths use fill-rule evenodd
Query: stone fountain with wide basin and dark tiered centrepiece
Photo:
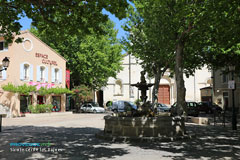
M 143 104 L 140 108 L 151 107 L 151 104 L 147 105 L 146 91 L 153 84 L 147 84 L 144 75 L 145 71 L 142 71 L 140 83 L 132 84 L 141 91 L 140 98 Z M 143 110 L 139 112 L 143 112 Z M 147 116 L 146 113 L 137 114 L 141 115 L 138 117 L 105 116 L 104 132 L 97 136 L 120 141 L 162 141 L 186 137 L 184 118 L 175 118 L 170 115 Z

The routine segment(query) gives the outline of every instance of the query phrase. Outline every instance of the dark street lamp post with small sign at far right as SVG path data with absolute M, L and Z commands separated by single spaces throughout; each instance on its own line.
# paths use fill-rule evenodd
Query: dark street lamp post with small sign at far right
M 229 66 L 229 71 L 232 73 L 232 130 L 237 130 L 237 115 L 235 110 L 235 101 L 234 101 L 234 90 L 235 90 L 235 81 L 234 81 L 234 71 L 235 66 Z M 230 86 L 230 82 L 229 82 Z

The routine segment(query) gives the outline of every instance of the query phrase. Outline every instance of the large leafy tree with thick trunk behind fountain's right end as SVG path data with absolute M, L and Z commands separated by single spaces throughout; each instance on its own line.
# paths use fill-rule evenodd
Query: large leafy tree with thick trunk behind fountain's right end
M 194 70 L 203 64 L 215 67 L 233 62 L 237 64 L 240 46 L 239 3 L 237 0 L 231 2 L 227 0 L 134 1 L 140 16 L 137 19 L 138 23 L 133 20 L 132 26 L 135 29 L 140 25 L 145 29 L 133 36 L 139 38 L 144 34 L 147 37 L 146 42 L 141 41 L 141 43 L 147 44 L 146 46 L 158 44 L 159 55 L 160 53 L 166 56 L 170 53 L 175 54 L 175 62 L 171 63 L 175 65 L 178 115 L 185 106 L 183 73 L 187 76 L 194 74 Z M 136 47 L 134 43 L 133 47 Z M 168 52 L 162 52 L 167 50 Z M 142 47 L 138 53 L 146 62 L 156 50 L 147 51 Z

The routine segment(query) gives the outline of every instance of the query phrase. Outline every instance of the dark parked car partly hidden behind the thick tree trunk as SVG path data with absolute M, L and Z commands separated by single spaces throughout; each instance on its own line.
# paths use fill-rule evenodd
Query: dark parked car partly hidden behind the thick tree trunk
M 187 115 L 197 117 L 199 115 L 198 104 L 196 102 L 190 102 L 190 101 L 187 101 L 186 104 L 187 104 Z M 177 115 L 177 103 L 176 102 L 171 106 L 170 111 L 171 111 L 172 116 Z

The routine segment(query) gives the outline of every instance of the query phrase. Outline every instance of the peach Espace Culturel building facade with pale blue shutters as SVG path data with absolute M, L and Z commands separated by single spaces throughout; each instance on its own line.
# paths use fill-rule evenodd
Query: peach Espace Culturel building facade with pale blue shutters
M 22 43 L 13 42 L 8 46 L 0 38 L 0 66 L 4 57 L 10 60 L 7 70 L 0 72 L 0 86 L 12 83 L 15 86 L 35 85 L 37 89 L 65 88 L 66 60 L 29 31 L 22 31 L 20 37 L 24 38 Z M 65 111 L 65 95 L 30 95 L 33 105 L 52 104 L 53 100 L 58 100 L 60 110 Z M 24 95 L 6 92 L 0 87 L 1 112 L 9 108 L 11 116 L 20 116 L 22 102 Z

